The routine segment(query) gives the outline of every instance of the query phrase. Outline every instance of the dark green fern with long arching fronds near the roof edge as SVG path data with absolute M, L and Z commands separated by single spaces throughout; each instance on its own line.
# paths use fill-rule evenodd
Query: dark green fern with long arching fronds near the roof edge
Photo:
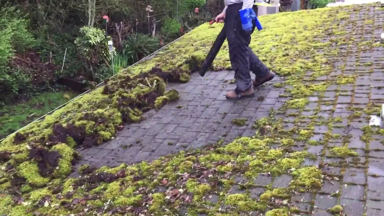
M 155 52 L 159 48 L 159 38 L 144 35 L 142 33 L 131 34 L 123 42 L 122 55 L 130 65 L 141 60 L 145 56 Z

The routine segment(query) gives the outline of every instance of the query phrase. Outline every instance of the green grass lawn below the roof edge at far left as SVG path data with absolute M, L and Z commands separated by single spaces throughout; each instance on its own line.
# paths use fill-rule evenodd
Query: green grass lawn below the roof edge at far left
M 17 131 L 75 96 L 76 93 L 49 92 L 33 97 L 24 103 L 6 105 L 0 108 L 0 139 Z

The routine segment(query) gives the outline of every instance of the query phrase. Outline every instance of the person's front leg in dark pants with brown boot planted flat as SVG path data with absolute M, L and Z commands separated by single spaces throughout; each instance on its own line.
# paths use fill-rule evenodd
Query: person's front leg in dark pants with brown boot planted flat
M 229 57 L 233 70 L 235 70 L 236 89 L 227 94 L 228 99 L 238 99 L 254 95 L 252 78 L 249 69 L 248 45 L 251 31 L 242 29 L 239 10 L 242 3 L 230 5 L 226 11 L 225 25 L 229 48 Z

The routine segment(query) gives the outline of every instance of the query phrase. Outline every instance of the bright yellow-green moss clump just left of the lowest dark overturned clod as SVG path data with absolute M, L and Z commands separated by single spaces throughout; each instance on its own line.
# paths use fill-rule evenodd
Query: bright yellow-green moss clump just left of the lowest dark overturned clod
M 25 161 L 17 167 L 20 176 L 23 176 L 26 181 L 35 186 L 44 186 L 49 183 L 49 178 L 44 178 L 39 174 L 39 168 L 36 163 Z

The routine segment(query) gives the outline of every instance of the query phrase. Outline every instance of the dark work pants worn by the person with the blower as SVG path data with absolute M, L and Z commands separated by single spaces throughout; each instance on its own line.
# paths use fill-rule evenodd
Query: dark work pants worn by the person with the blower
M 227 36 L 229 59 L 232 69 L 235 70 L 235 80 L 237 89 L 241 92 L 247 91 L 252 87 L 252 71 L 257 78 L 269 73 L 269 69 L 260 61 L 249 47 L 251 34 L 255 29 L 255 24 L 251 31 L 244 31 L 241 25 L 239 10 L 243 3 L 228 5 L 225 12 L 225 35 Z

